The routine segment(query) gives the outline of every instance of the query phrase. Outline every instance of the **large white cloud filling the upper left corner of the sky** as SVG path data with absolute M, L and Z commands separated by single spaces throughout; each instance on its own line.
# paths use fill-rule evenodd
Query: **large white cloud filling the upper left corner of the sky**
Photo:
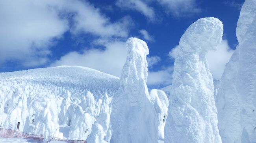
M 117 22 L 86 1 L 0 1 L 0 64 L 18 61 L 23 66 L 46 64 L 50 47 L 66 31 L 99 37 L 126 37 L 131 19 Z

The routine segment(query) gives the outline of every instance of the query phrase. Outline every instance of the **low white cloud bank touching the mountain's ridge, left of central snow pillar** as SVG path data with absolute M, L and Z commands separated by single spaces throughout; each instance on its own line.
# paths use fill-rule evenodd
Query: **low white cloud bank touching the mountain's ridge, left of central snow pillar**
M 107 42 L 104 45 L 104 50 L 93 48 L 82 53 L 70 52 L 51 66 L 80 65 L 120 77 L 127 56 L 125 42 Z

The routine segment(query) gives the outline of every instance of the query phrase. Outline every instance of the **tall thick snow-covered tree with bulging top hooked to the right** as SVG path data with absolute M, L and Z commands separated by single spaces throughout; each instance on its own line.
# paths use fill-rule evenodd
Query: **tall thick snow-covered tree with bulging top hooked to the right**
M 222 35 L 223 24 L 217 18 L 201 18 L 182 35 L 174 62 L 165 143 L 221 143 L 206 53 L 216 50 Z

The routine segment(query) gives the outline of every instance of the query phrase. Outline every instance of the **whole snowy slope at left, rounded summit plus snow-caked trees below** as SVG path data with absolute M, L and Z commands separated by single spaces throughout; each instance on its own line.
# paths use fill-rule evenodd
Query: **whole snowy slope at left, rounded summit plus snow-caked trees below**
M 0 73 L 0 126 L 16 129 L 20 122 L 20 130 L 30 134 L 85 140 L 89 125 L 110 114 L 119 86 L 115 76 L 77 66 Z M 100 123 L 106 132 L 109 118 L 101 117 Z M 71 125 L 68 136 L 59 132 L 62 124 Z

